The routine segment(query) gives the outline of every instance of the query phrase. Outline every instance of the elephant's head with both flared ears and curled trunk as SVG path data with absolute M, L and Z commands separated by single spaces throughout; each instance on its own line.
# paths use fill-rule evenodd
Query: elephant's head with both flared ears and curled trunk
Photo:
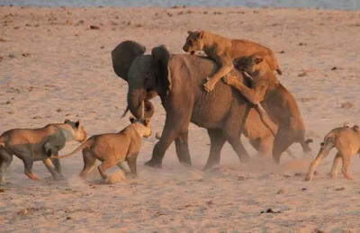
M 112 67 L 129 84 L 128 108 L 136 118 L 151 117 L 154 105 L 149 100 L 166 95 L 171 88 L 167 67 L 170 54 L 166 47 L 152 49 L 151 55 L 144 53 L 145 47 L 131 40 L 112 50 Z

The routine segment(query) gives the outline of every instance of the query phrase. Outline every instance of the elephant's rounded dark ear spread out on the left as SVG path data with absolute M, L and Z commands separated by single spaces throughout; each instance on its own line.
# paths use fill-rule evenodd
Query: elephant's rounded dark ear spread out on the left
M 122 41 L 112 50 L 112 67 L 116 75 L 128 81 L 129 69 L 132 61 L 145 53 L 145 46 L 132 40 Z

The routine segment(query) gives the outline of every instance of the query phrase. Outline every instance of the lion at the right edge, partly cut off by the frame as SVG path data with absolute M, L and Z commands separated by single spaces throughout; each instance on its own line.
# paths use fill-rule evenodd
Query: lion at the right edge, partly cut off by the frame
M 316 167 L 319 165 L 321 159 L 327 157 L 332 148 L 337 148 L 338 153 L 335 156 L 331 167 L 331 178 L 337 177 L 338 166 L 342 160 L 343 167 L 341 172 L 348 180 L 354 179 L 352 175 L 348 174 L 348 166 L 350 166 L 351 157 L 360 153 L 360 130 L 357 125 L 354 125 L 351 128 L 345 125 L 329 131 L 329 133 L 325 136 L 324 142 L 321 143 L 318 156 L 311 163 L 308 175 L 306 175 L 305 178 L 306 181 L 311 181 Z

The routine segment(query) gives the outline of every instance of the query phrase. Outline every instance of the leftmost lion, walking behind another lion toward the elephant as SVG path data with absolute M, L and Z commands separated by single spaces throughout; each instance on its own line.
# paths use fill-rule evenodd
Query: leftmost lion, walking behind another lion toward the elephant
M 48 124 L 40 129 L 7 130 L 0 136 L 0 182 L 13 161 L 13 155 L 23 160 L 24 173 L 31 180 L 40 178 L 32 172 L 34 161 L 42 160 L 55 179 L 63 179 L 60 162 L 54 156 L 65 147 L 67 141 L 83 142 L 86 132 L 80 121 Z

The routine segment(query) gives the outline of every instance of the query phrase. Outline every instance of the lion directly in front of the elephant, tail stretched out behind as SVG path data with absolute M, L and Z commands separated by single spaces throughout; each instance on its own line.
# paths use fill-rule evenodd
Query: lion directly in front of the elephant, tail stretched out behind
M 136 176 L 136 160 L 141 147 L 141 138 L 151 136 L 151 125 L 149 119 L 135 120 L 130 117 L 130 122 L 131 124 L 120 132 L 94 135 L 70 154 L 58 158 L 72 157 L 83 150 L 84 168 L 80 173 L 82 178 L 94 169 L 96 159 L 102 161 L 97 169 L 106 183 L 110 183 L 106 170 L 115 165 L 123 169 L 124 161 L 128 162 L 131 175 Z

